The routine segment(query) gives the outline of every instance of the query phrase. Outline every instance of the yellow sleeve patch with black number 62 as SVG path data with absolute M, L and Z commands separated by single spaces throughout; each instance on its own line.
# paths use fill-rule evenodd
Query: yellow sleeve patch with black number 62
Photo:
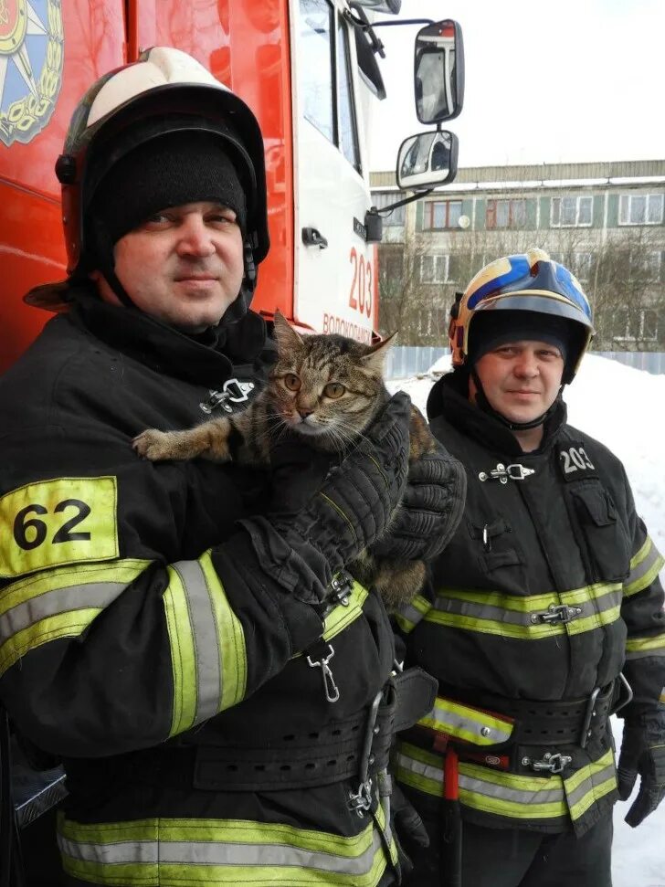
M 0 499 L 0 576 L 118 556 L 116 479 L 27 483 Z

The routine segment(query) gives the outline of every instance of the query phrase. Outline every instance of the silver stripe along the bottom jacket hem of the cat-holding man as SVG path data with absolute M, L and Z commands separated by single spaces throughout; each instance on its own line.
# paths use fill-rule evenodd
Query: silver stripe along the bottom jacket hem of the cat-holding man
M 374 865 L 376 852 L 381 847 L 381 837 L 375 829 L 372 844 L 356 857 L 301 850 L 286 844 L 227 843 L 222 840 L 125 840 L 111 844 L 92 844 L 59 836 L 58 844 L 61 853 L 70 859 L 111 865 L 146 863 L 291 866 L 335 874 L 364 875 Z

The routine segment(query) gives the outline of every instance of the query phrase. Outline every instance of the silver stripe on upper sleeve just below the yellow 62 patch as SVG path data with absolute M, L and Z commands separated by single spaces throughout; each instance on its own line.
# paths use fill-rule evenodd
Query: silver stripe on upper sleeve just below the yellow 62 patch
M 38 597 L 16 604 L 0 617 L 0 642 L 13 637 L 25 628 L 37 625 L 49 616 L 69 613 L 82 607 L 108 607 L 127 586 L 121 582 L 81 583 L 68 588 L 55 588 Z

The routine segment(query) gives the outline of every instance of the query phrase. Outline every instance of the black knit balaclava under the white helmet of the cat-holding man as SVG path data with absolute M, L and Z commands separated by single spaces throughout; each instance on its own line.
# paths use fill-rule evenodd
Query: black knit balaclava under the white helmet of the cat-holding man
M 124 154 L 101 179 L 84 224 L 92 264 L 125 306 L 132 306 L 132 300 L 115 274 L 113 248 L 160 210 L 214 201 L 235 212 L 243 240 L 247 240 L 245 190 L 225 147 L 224 141 L 210 132 L 170 132 Z

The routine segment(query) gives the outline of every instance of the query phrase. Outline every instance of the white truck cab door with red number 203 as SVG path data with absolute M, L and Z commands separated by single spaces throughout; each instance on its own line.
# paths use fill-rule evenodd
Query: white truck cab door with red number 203
M 375 248 L 354 33 L 343 0 L 293 0 L 294 319 L 371 341 Z

